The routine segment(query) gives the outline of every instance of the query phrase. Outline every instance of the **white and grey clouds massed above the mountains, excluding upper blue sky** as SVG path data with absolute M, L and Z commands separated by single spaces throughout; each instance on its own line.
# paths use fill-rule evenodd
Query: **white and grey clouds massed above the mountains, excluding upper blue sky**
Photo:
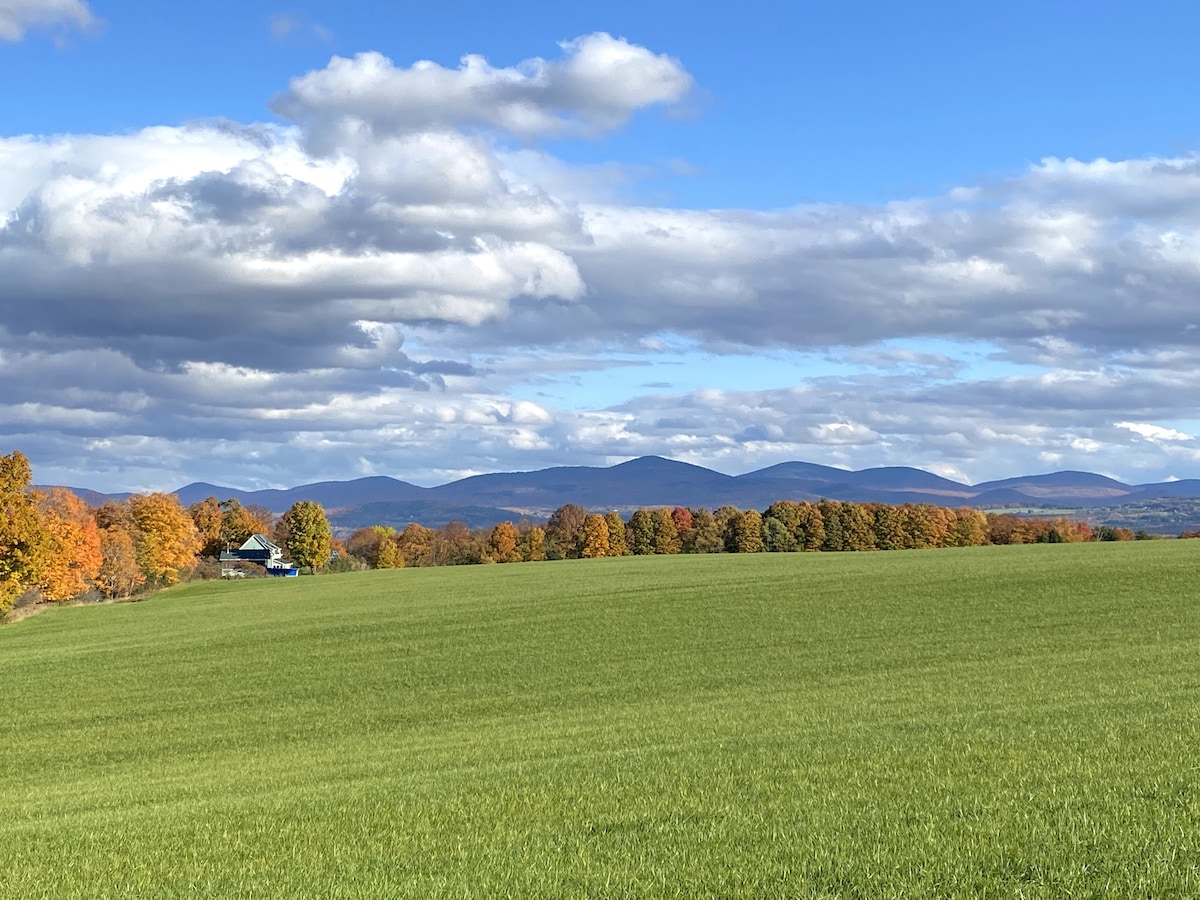
M 7 41 L 94 22 L 0 0 Z M 100 490 L 643 454 L 1200 474 L 1200 157 L 751 210 L 547 149 L 696 86 L 596 32 L 335 55 L 274 122 L 0 137 L 0 443 Z

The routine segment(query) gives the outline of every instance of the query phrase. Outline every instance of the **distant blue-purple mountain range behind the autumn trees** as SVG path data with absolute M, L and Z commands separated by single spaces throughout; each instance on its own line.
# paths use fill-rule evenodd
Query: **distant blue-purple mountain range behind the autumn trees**
M 74 490 L 92 504 L 127 494 Z M 907 466 L 851 472 L 810 462 L 784 462 L 744 475 L 724 475 L 659 456 L 607 468 L 569 466 L 536 472 L 473 475 L 437 487 L 419 487 L 383 475 L 320 481 L 286 491 L 238 491 L 197 482 L 179 488 L 185 505 L 206 497 L 236 498 L 282 512 L 296 500 L 317 500 L 338 530 L 367 524 L 442 526 L 460 520 L 484 527 L 506 518 L 544 520 L 564 503 L 629 512 L 638 506 L 725 504 L 764 509 L 775 500 L 822 497 L 858 503 L 935 503 L 942 506 L 1110 508 L 1160 498 L 1200 498 L 1200 479 L 1127 485 L 1091 472 L 1051 472 L 980 485 L 964 485 Z

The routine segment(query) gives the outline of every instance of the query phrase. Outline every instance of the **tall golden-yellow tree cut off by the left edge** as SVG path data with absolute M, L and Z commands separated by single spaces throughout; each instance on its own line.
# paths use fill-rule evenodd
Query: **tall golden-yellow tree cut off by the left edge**
M 46 562 L 47 535 L 29 491 L 31 479 L 24 454 L 0 456 L 0 614 L 37 582 Z

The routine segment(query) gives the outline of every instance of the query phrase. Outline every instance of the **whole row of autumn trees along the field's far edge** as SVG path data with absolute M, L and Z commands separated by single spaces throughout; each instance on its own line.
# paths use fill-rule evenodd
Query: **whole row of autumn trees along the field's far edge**
M 221 577 L 226 548 L 253 534 L 278 544 L 310 571 L 587 559 L 674 553 L 791 553 L 971 547 L 984 544 L 1134 540 L 1123 528 L 1066 517 L 1028 518 L 935 504 L 779 500 L 763 511 L 662 506 L 616 511 L 559 506 L 545 522 L 472 529 L 410 523 L 372 526 L 344 544 L 320 504 L 301 500 L 282 516 L 265 506 L 209 497 L 184 508 L 175 494 L 134 494 L 91 508 L 65 488 L 30 487 L 28 460 L 0 456 L 0 616 L 26 592 L 61 601 L 96 592 L 128 598 L 184 578 Z M 242 575 L 265 570 L 252 563 Z

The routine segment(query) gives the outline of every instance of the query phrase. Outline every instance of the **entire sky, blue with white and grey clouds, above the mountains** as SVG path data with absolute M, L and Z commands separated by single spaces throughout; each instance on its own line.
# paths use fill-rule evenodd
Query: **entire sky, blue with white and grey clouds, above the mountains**
M 1200 475 L 1198 25 L 0 0 L 0 449 L 101 490 Z

